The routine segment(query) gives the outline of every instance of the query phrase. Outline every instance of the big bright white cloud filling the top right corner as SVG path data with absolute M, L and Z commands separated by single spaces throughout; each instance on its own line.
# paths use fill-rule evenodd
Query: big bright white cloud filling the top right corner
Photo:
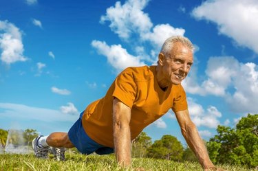
M 233 38 L 238 45 L 248 47 L 258 54 L 257 0 L 204 1 L 192 14 L 196 19 L 213 21 L 218 25 L 220 34 Z

